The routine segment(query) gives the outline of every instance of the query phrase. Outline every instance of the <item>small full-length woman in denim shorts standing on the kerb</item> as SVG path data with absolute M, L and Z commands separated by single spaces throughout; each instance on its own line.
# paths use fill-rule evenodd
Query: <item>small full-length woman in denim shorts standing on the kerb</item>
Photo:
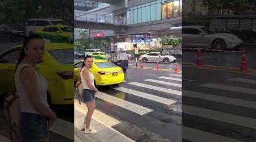
M 90 127 L 93 111 L 96 108 L 95 94 L 98 93 L 98 89 L 94 86 L 94 76 L 89 71 L 89 69 L 92 68 L 92 64 L 92 57 L 86 56 L 80 71 L 82 81 L 82 99 L 88 108 L 88 112 L 85 116 L 84 124 L 82 124 L 81 129 L 84 130 L 84 133 L 90 134 L 97 132 L 93 127 Z

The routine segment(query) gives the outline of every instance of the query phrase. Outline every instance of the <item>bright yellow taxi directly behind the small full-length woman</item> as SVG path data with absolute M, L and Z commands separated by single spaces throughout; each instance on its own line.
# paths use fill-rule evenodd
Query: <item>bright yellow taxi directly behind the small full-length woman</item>
M 74 81 L 80 80 L 80 69 L 83 61 L 78 61 L 74 65 L 75 77 Z M 113 64 L 108 60 L 93 59 L 92 68 L 95 79 L 94 83 L 97 86 L 113 85 L 125 81 L 125 74 L 122 68 Z

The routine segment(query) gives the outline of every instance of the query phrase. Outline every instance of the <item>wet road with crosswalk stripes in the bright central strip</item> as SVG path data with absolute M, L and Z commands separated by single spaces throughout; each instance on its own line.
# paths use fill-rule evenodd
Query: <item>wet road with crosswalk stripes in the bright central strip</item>
M 129 68 L 126 82 L 99 87 L 97 110 L 135 141 L 181 141 L 181 85 L 180 73 Z

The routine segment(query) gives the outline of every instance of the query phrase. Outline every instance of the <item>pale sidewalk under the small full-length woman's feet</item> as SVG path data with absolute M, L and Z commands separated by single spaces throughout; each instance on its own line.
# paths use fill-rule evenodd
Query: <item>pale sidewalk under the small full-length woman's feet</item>
M 122 133 L 114 130 L 112 126 L 114 124 L 121 123 L 118 120 L 95 110 L 92 118 L 92 126 L 97 130 L 97 133 L 94 135 L 85 134 L 84 131 L 80 130 L 81 124 L 84 122 L 84 118 L 87 112 L 86 105 L 82 103 L 79 105 L 79 102 L 75 99 L 75 108 L 74 108 L 74 117 L 75 117 L 75 126 L 74 126 L 74 141 L 81 142 L 134 142 L 129 137 L 123 135 Z

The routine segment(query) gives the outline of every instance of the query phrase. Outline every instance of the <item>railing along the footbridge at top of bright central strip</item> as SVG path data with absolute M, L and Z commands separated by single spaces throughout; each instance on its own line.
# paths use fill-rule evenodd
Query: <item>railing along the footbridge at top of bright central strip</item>
M 118 26 L 127 26 L 127 19 L 112 15 L 79 14 L 75 12 L 75 20 L 82 22 L 105 23 Z

